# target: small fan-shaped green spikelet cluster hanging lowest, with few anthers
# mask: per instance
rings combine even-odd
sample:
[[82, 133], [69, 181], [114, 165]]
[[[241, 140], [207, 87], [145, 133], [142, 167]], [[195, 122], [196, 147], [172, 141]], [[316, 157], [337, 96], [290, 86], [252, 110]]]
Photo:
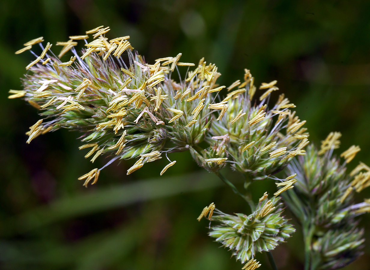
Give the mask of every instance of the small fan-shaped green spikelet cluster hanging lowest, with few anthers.
[[217, 225], [210, 228], [209, 236], [232, 250], [232, 256], [242, 263], [253, 259], [257, 252], [275, 249], [295, 232], [282, 216], [283, 209], [279, 200], [280, 197], [276, 196], [269, 199], [265, 193], [250, 215], [229, 215], [214, 209], [208, 219]]

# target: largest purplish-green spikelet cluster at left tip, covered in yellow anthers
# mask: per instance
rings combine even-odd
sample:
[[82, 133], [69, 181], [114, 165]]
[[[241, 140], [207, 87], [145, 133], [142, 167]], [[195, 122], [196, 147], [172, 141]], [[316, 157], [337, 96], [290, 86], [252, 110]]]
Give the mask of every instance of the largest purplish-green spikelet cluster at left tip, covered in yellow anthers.
[[[132, 52], [129, 36], [108, 40], [107, 31], [107, 27], [97, 27], [58, 42], [63, 46], [58, 57], [51, 52], [50, 43], [45, 48], [41, 45], [42, 37], [17, 52], [37, 43], [42, 51], [26, 67], [30, 73], [23, 79], [23, 90], [10, 90], [9, 96], [23, 97], [40, 110], [42, 119], [30, 127], [27, 143], [59, 128], [80, 131], [85, 143], [80, 149], [87, 151], [85, 157], [92, 162], [100, 155], [112, 157], [108, 164], [116, 159], [137, 159], [127, 174], [167, 157], [167, 153], [201, 143], [212, 122], [211, 93], [222, 89], [215, 84], [221, 75], [217, 67], [201, 59], [176, 83], [172, 72], [195, 64], [180, 62], [178, 54], [150, 65]], [[78, 41], [85, 42], [82, 55], [74, 49]], [[74, 56], [61, 61], [67, 52]], [[161, 174], [174, 164], [170, 162]], [[84, 185], [92, 179], [95, 183], [101, 169], [79, 179], [85, 179]]]

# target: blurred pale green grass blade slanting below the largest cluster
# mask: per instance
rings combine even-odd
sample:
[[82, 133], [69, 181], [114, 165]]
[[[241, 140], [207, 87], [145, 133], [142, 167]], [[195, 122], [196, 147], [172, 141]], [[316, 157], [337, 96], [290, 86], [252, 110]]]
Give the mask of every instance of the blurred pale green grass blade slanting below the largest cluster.
[[218, 181], [214, 175], [202, 171], [98, 189], [72, 198], [61, 198], [50, 205], [10, 218], [4, 221], [2, 234], [4, 232], [6, 235], [22, 233], [63, 219], [219, 185], [221, 181]]

